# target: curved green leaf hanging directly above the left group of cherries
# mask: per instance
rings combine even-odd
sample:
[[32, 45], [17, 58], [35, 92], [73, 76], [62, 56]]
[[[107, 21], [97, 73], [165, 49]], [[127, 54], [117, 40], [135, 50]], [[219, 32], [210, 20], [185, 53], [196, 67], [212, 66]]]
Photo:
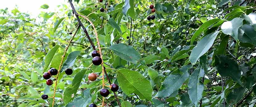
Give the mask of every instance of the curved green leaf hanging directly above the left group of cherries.
[[43, 61], [43, 71], [47, 72], [47, 68], [50, 65], [52, 58], [54, 57], [54, 54], [57, 52], [58, 48], [60, 47], [60, 45], [56, 45], [54, 46], [45, 56], [44, 61]]

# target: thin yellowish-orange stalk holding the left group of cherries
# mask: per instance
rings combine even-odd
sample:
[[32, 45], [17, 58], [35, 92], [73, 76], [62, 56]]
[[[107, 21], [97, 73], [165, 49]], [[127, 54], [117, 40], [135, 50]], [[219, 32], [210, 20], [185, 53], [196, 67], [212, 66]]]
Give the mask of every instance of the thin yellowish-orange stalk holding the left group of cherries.
[[66, 52], [68, 51], [68, 47], [69, 45], [71, 44], [72, 40], [74, 39], [78, 29], [80, 28], [80, 25], [77, 26], [77, 29], [76, 29], [76, 32], [74, 33], [74, 35], [72, 36], [72, 38], [70, 39], [70, 41], [68, 42], [68, 46], [65, 48], [64, 50], [64, 53], [63, 53], [63, 56], [62, 56], [62, 59], [60, 61], [60, 66], [59, 66], [59, 70], [58, 70], [58, 74], [56, 76], [56, 82], [55, 82], [55, 87], [54, 87], [54, 93], [53, 93], [53, 101], [52, 101], [52, 107], [54, 106], [54, 99], [55, 99], [55, 94], [56, 94], [56, 87], [57, 87], [57, 83], [58, 83], [58, 77], [60, 75], [60, 68], [62, 66], [62, 63], [63, 63], [63, 60], [64, 60], [64, 57], [65, 57], [65, 54]]

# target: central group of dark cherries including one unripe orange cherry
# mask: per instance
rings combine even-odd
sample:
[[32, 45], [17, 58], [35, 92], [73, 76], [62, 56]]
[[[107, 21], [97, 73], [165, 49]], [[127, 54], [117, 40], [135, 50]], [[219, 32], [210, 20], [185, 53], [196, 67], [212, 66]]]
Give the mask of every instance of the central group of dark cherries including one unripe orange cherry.
[[[93, 57], [93, 65], [101, 64], [102, 60], [101, 60], [100, 54], [97, 52], [97, 50], [93, 50], [92, 57]], [[88, 79], [90, 81], [95, 81], [97, 79], [97, 75], [95, 73], [91, 73], [88, 75]], [[115, 83], [111, 84], [109, 87], [113, 92], [118, 91], [118, 88], [119, 88], [118, 85]], [[103, 88], [100, 90], [100, 94], [103, 97], [107, 97], [109, 95], [109, 90], [106, 88]], [[89, 107], [97, 107], [97, 106], [92, 103], [89, 105]]]

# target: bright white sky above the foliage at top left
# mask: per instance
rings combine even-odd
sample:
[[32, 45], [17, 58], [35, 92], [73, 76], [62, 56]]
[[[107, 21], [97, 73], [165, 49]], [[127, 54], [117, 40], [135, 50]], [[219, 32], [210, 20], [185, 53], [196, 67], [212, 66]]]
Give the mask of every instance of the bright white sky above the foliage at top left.
[[[41, 9], [40, 6], [43, 4], [47, 4], [49, 8]], [[35, 18], [41, 11], [55, 12], [55, 8], [61, 4], [68, 4], [68, 0], [4, 0], [0, 3], [0, 9], [7, 7], [11, 11], [17, 5], [20, 12], [29, 13]]]

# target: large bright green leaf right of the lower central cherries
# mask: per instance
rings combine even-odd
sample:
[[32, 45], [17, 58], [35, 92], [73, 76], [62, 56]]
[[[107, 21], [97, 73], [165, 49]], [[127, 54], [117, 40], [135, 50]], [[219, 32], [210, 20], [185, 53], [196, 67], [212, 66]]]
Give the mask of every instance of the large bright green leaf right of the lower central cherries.
[[119, 69], [117, 71], [118, 83], [125, 94], [138, 94], [140, 99], [151, 100], [152, 87], [149, 80], [136, 71]]

